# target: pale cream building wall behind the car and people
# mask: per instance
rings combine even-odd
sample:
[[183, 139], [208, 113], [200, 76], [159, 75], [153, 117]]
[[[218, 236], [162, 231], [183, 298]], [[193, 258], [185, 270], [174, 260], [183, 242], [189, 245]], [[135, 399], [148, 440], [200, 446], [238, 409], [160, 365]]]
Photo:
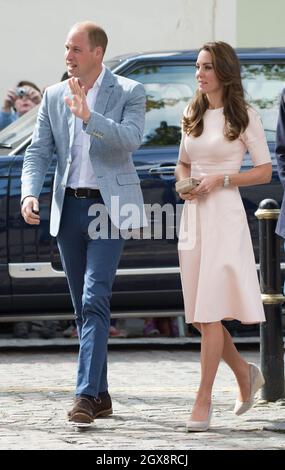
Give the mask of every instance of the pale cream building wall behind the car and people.
[[128, 52], [192, 49], [210, 40], [284, 46], [284, 0], [0, 0], [0, 103], [17, 81], [60, 80], [64, 41], [77, 21], [101, 24], [106, 58]]

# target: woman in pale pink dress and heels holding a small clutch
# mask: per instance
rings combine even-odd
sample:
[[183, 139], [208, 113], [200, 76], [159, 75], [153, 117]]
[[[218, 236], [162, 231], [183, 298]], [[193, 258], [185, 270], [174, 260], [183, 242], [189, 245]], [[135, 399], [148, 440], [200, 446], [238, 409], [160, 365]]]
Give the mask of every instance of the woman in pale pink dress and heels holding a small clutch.
[[[265, 321], [256, 266], [239, 186], [268, 183], [271, 158], [261, 120], [244, 99], [240, 65], [231, 46], [208, 43], [197, 59], [198, 89], [183, 116], [177, 180], [200, 184], [187, 194], [179, 235], [186, 322], [201, 338], [201, 381], [188, 431], [210, 425], [213, 382], [221, 358], [238, 383], [234, 412], [251, 408], [263, 385], [259, 368], [235, 348], [222, 320]], [[253, 168], [240, 172], [246, 151]]]

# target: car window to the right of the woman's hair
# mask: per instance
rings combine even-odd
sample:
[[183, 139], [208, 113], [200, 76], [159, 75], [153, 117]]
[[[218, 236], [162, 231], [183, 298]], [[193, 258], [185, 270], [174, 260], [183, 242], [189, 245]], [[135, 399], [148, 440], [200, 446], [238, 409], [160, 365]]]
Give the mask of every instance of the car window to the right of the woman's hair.
[[246, 99], [260, 114], [267, 141], [274, 142], [285, 64], [244, 64], [241, 73]]

